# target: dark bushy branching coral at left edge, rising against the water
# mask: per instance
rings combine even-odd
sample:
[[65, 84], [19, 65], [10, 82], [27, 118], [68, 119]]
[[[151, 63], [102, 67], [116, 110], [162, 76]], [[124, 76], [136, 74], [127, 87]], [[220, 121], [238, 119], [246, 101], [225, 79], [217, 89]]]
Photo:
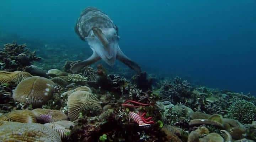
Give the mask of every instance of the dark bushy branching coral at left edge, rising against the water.
[[26, 44], [18, 45], [16, 42], [4, 45], [0, 51], [0, 62], [4, 70], [22, 70], [23, 67], [31, 65], [32, 61], [40, 60], [34, 52], [26, 49]]

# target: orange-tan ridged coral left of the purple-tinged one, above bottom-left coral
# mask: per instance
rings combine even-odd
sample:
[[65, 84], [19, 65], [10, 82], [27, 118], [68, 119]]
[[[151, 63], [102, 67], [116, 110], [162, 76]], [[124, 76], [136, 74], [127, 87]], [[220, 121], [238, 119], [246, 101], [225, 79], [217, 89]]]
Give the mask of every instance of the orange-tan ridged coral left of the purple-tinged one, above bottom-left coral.
[[6, 115], [7, 121], [36, 123], [36, 116], [31, 110], [14, 110]]

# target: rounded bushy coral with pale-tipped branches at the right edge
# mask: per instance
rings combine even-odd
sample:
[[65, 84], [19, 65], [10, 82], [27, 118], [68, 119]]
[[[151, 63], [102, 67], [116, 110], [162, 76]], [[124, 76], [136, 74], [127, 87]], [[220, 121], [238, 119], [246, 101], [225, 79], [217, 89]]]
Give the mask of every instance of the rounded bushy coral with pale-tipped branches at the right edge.
[[237, 99], [228, 108], [228, 117], [236, 119], [242, 124], [251, 124], [256, 120], [256, 105], [244, 99]]

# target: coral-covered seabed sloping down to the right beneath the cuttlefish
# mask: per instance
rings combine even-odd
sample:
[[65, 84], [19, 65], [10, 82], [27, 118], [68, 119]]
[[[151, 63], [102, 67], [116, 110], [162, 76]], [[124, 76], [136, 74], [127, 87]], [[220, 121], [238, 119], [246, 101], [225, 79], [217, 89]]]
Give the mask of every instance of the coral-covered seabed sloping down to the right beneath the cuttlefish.
[[1, 50], [0, 141], [256, 140], [252, 94], [194, 86], [174, 76], [133, 76], [118, 64], [86, 66], [74, 74], [70, 67], [79, 61], [68, 60], [83, 54], [45, 46], [43, 62], [34, 62], [38, 67], [31, 65], [39, 58], [26, 45]]

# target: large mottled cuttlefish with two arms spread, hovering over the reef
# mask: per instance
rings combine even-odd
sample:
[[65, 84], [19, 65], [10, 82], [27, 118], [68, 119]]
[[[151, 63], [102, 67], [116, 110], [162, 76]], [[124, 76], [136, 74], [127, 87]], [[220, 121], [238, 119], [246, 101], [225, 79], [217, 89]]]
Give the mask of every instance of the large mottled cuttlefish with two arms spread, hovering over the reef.
[[118, 59], [137, 73], [141, 72], [140, 66], [121, 51], [118, 28], [102, 11], [94, 7], [88, 7], [82, 11], [76, 23], [75, 32], [82, 40], [88, 42], [93, 54], [88, 59], [74, 64], [71, 67], [73, 72], [79, 72], [83, 67], [100, 59], [110, 66], [113, 66]]

